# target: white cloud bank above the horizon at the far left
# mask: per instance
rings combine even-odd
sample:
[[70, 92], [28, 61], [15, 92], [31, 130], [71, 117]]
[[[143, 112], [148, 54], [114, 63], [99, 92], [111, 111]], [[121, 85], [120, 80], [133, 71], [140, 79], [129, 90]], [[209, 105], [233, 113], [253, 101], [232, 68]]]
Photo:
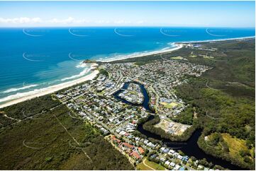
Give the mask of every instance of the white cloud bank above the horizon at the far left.
[[0, 23], [41, 23], [41, 18], [28, 18], [28, 17], [20, 17], [20, 18], [0, 18]]

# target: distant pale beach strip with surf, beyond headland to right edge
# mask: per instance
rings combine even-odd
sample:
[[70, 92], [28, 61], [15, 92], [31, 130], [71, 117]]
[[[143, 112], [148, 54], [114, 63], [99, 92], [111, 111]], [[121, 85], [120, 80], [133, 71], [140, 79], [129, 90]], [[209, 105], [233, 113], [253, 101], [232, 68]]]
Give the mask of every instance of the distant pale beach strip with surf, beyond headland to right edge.
[[216, 40], [198, 40], [198, 41], [187, 41], [187, 42], [172, 42], [172, 44], [175, 46], [170, 49], [160, 49], [160, 50], [155, 50], [152, 52], [141, 52], [140, 54], [128, 54], [128, 55], [123, 55], [123, 57], [117, 57], [117, 58], [112, 58], [112, 59], [99, 59], [96, 61], [99, 62], [112, 62], [112, 61], [121, 61], [124, 59], [133, 59], [133, 58], [138, 58], [138, 57], [145, 57], [149, 55], [155, 55], [155, 54], [163, 54], [163, 53], [168, 53], [172, 52], [174, 50], [181, 49], [184, 47], [184, 45], [188, 43], [199, 43], [199, 42], [222, 42], [222, 41], [228, 41], [228, 40], [245, 40], [245, 39], [252, 39], [255, 38], [255, 36], [247, 36], [247, 37], [236, 37], [236, 38], [226, 38], [226, 39], [216, 39]]

